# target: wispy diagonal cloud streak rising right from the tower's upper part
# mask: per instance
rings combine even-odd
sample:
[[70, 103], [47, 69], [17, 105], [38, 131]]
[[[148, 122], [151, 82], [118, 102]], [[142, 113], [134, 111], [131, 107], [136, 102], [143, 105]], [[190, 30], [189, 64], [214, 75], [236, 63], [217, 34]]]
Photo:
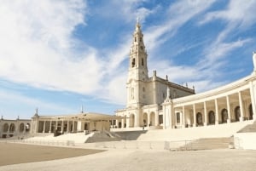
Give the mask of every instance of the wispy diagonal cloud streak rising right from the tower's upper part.
[[178, 1], [167, 9], [166, 20], [159, 26], [152, 26], [145, 31], [145, 42], [148, 51], [154, 51], [162, 43], [169, 40], [188, 20], [207, 10], [215, 0], [210, 1]]

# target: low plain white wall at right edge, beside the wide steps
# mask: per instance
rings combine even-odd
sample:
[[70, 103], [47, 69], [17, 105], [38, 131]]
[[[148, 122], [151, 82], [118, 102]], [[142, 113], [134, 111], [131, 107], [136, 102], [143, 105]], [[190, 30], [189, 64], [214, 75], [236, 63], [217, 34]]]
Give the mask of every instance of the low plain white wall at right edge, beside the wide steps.
[[234, 135], [236, 149], [256, 150], [256, 133], [238, 133]]

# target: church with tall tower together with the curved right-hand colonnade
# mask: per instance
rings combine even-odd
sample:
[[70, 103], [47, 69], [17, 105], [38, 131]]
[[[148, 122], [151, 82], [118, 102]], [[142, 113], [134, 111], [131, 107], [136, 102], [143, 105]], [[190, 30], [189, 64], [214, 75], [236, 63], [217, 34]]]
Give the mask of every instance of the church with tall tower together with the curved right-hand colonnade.
[[187, 128], [256, 120], [256, 54], [250, 76], [195, 94], [195, 89], [158, 77], [148, 77], [147, 51], [137, 22], [126, 82], [125, 109], [116, 111], [116, 128]]

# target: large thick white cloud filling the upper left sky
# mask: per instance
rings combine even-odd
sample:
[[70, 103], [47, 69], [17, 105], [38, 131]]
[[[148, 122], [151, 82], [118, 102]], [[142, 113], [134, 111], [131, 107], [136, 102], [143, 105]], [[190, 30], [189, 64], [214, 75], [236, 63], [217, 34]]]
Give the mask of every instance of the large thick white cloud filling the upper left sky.
[[90, 94], [99, 88], [102, 63], [96, 50], [73, 39], [85, 25], [86, 3], [3, 1], [0, 8], [0, 77], [39, 88]]

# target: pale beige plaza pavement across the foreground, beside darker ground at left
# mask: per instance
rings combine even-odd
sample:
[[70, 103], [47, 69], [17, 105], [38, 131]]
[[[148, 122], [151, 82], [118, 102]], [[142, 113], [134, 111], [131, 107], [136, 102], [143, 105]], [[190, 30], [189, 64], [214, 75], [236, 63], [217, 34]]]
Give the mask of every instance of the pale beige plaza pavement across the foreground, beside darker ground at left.
[[212, 151], [113, 149], [83, 157], [7, 165], [0, 167], [0, 170], [255, 171], [256, 151], [234, 149]]

